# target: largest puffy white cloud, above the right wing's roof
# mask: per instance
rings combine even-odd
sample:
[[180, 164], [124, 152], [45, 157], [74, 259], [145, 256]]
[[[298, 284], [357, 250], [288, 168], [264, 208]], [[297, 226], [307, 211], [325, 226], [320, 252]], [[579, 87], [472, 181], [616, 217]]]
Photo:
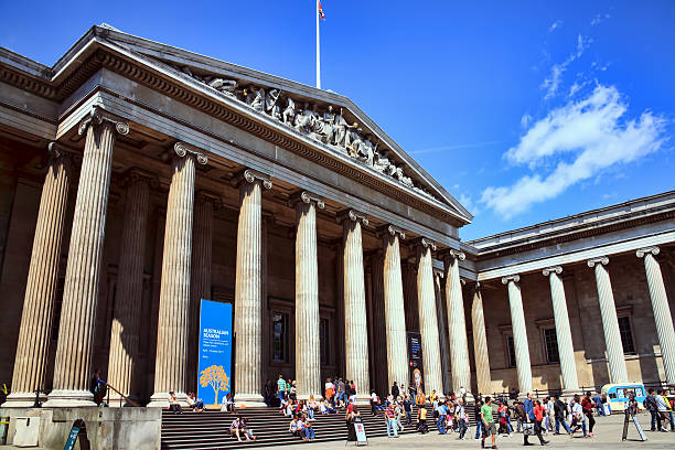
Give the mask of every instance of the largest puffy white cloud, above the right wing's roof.
[[513, 185], [485, 189], [480, 202], [510, 218], [606, 169], [658, 150], [666, 139], [665, 120], [651, 111], [629, 120], [626, 109], [615, 87], [599, 85], [588, 97], [551, 110], [504, 154], [532, 173]]

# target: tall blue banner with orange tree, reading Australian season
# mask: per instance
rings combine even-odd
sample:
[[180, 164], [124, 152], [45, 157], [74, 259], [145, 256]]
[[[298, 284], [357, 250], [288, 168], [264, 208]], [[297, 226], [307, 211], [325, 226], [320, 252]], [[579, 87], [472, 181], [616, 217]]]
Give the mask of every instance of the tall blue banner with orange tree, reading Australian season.
[[197, 397], [218, 406], [229, 392], [232, 375], [232, 304], [202, 300]]

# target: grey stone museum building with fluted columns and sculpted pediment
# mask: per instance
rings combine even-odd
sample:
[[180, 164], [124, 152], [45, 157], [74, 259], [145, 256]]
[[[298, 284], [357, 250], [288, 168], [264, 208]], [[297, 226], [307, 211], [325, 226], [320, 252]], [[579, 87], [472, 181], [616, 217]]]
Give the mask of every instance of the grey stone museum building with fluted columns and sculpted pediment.
[[0, 49], [3, 408], [195, 390], [199, 304], [232, 389], [300, 397], [675, 385], [675, 191], [461, 242], [471, 214], [349, 98], [94, 26]]

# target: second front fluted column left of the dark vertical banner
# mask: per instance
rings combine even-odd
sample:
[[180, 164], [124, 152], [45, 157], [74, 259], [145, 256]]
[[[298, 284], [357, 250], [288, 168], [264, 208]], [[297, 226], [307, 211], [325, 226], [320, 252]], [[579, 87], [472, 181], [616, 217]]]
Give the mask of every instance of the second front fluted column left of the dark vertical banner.
[[368, 218], [354, 210], [339, 216], [343, 226], [344, 256], [344, 350], [345, 376], [357, 386], [357, 399], [367, 401], [371, 394], [368, 375], [368, 325], [363, 268], [361, 225]]

